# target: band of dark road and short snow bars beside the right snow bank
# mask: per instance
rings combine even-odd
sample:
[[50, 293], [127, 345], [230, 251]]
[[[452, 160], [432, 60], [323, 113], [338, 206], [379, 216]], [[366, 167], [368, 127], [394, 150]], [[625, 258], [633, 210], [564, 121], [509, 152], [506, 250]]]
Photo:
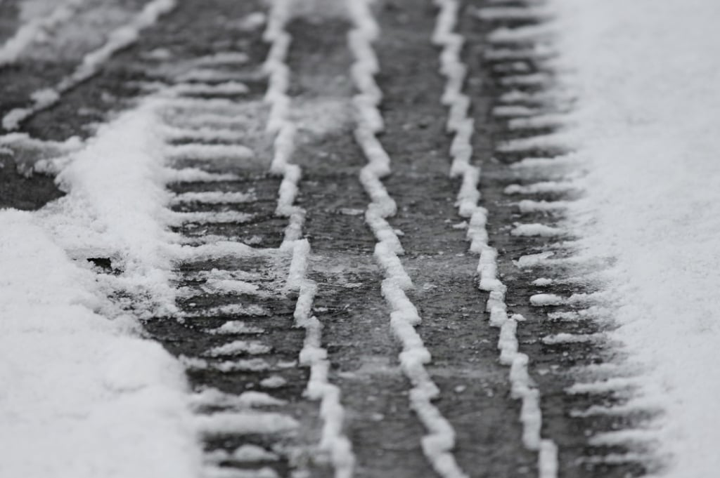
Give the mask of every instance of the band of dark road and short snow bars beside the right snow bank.
[[[582, 158], [571, 152], [562, 134], [573, 121], [568, 113], [574, 100], [554, 63], [552, 12], [527, 1], [509, 5], [471, 10], [474, 27], [482, 29], [480, 41], [488, 45], [480, 59], [489, 73], [484, 91], [495, 96], [490, 116], [499, 161], [487, 164], [490, 176], [483, 179], [486, 201], [494, 204], [490, 240], [515, 259], [500, 257], [498, 272], [509, 286], [508, 303], [527, 319], [517, 330], [518, 339], [527, 344], [531, 373], [544, 392], [544, 430], [559, 446], [559, 473], [642, 476], [647, 468], [635, 458], [647, 456], [652, 444], [640, 443], [647, 434], [634, 429], [642, 431], [654, 412], [638, 406], [624, 413], [629, 410], [625, 404], [636, 398], [632, 387], [622, 385], [638, 372], [622, 368], [609, 377], [578, 372], [622, 358], [602, 334], [612, 323], [608, 298], [599, 293], [601, 282], [595, 278], [606, 265], [575, 257], [564, 224], [565, 208], [582, 200]], [[508, 198], [518, 199], [508, 203]], [[514, 223], [511, 234], [495, 231], [493, 216]], [[618, 413], [602, 412], [595, 408], [599, 403]], [[593, 410], [592, 418], [582, 410]]]

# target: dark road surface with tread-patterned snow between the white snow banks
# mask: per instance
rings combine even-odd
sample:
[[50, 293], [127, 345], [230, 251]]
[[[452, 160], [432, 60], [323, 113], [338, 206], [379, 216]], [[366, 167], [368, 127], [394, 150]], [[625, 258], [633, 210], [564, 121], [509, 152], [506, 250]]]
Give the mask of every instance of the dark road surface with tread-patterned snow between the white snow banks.
[[107, 43], [0, 69], [6, 133], [37, 139], [0, 152], [0, 206], [62, 196], [14, 163], [156, 98], [189, 252], [143, 325], [186, 364], [207, 476], [649, 471], [623, 432], [654, 412], [622, 411], [636, 371], [564, 221], [581, 172], [554, 160], [572, 98], [541, 2], [154, 3], [89, 73]]

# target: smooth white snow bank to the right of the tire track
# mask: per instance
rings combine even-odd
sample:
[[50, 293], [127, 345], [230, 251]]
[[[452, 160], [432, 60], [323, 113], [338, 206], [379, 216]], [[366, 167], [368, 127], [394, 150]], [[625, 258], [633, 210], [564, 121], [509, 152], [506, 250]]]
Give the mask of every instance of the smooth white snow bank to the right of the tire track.
[[[616, 257], [613, 332], [651, 367], [668, 477], [720, 469], [720, 3], [554, 0], [590, 160], [571, 208], [585, 251]], [[590, 205], [590, 206], [588, 206]], [[590, 217], [591, 221], [583, 221]]]

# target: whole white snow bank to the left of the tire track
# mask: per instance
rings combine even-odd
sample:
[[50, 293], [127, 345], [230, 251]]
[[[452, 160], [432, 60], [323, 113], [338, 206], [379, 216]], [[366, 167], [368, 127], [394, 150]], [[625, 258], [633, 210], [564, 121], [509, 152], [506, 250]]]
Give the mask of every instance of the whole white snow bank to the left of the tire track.
[[183, 367], [107, 299], [148, 298], [148, 315], [174, 303], [155, 115], [148, 101], [72, 153], [58, 176], [67, 196], [0, 211], [3, 476], [199, 476]]

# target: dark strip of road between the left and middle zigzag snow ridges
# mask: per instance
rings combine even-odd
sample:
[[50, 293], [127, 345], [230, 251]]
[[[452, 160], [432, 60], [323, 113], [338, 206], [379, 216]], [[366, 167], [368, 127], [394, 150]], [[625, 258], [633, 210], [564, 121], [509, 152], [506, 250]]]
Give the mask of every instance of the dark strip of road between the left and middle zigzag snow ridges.
[[298, 126], [294, 162], [303, 170], [298, 201], [307, 209], [313, 246], [314, 313], [323, 322], [331, 380], [343, 392], [356, 476], [429, 477], [423, 427], [408, 406], [407, 379], [395, 364], [397, 342], [387, 333], [375, 239], [362, 218], [367, 198], [358, 175], [366, 159], [352, 134], [350, 25], [343, 2], [332, 5], [288, 27], [297, 39], [288, 60]]

